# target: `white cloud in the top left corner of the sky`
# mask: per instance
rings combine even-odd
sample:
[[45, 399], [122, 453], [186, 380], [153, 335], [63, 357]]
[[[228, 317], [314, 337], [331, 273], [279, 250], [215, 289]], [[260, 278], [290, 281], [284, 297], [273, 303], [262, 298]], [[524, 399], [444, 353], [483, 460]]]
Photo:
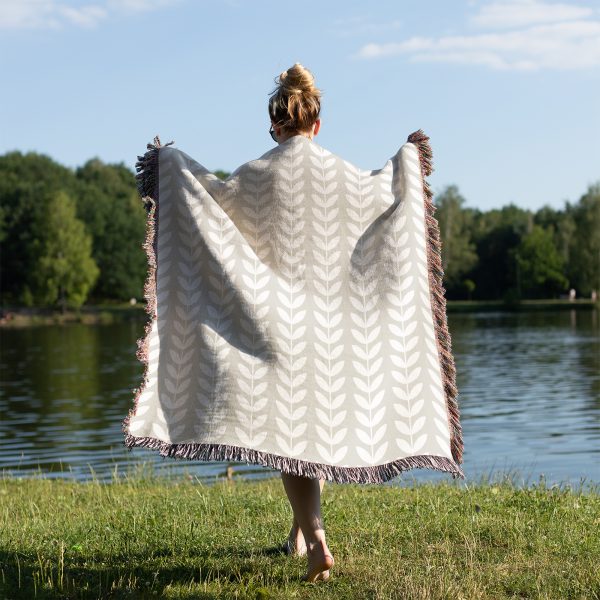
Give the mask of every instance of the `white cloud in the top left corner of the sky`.
[[95, 27], [118, 12], [142, 12], [178, 0], [104, 0], [75, 6], [65, 0], [0, 0], [0, 29]]

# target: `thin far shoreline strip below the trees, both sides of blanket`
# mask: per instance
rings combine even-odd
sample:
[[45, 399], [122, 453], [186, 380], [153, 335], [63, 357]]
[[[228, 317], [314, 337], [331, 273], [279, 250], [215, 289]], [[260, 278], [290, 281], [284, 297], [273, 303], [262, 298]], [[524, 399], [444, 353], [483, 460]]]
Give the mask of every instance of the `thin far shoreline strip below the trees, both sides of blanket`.
[[[447, 312], [497, 312], [543, 310], [600, 310], [600, 301], [580, 300], [522, 300], [506, 303], [502, 300], [448, 300]], [[30, 325], [60, 325], [66, 323], [110, 324], [131, 320], [147, 320], [144, 303], [113, 303], [82, 306], [79, 310], [62, 312], [55, 308], [4, 307], [0, 311], [0, 327]]]

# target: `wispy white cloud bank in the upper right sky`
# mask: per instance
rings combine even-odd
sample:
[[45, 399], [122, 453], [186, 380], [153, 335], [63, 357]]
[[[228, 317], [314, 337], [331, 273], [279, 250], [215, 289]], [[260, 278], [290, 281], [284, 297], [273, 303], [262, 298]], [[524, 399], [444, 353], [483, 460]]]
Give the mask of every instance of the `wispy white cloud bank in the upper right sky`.
[[[543, 7], [548, 9], [545, 15]], [[363, 46], [356, 56], [406, 55], [410, 62], [449, 62], [520, 71], [597, 67], [600, 66], [600, 20], [576, 18], [589, 14], [588, 9], [565, 4], [506, 0], [484, 5], [471, 22], [490, 27], [529, 26], [493, 33], [414, 36], [400, 42], [371, 43]]]

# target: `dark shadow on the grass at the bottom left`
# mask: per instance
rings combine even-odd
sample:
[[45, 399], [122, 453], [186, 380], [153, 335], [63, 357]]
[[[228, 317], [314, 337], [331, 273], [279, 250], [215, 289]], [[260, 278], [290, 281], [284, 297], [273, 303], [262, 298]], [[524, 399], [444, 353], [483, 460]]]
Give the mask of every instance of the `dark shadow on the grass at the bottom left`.
[[[223, 590], [202, 591], [199, 588], [233, 588], [237, 598], [270, 598], [264, 582], [257, 585], [257, 567], [253, 559], [286, 556], [280, 546], [245, 550], [236, 546], [213, 547], [187, 552], [186, 558], [196, 563], [186, 566], [157, 566], [156, 559], [179, 558], [171, 548], [152, 552], [111, 556], [111, 563], [98, 561], [71, 564], [43, 558], [39, 554], [0, 550], [0, 597], [17, 598], [161, 598], [167, 586], [178, 588], [181, 598], [222, 598]], [[233, 559], [233, 560], [232, 560]], [[236, 560], [237, 559], [237, 560]], [[275, 578], [277, 578], [277, 569]], [[271, 575], [271, 577], [273, 577]], [[284, 581], [281, 581], [284, 584]]]

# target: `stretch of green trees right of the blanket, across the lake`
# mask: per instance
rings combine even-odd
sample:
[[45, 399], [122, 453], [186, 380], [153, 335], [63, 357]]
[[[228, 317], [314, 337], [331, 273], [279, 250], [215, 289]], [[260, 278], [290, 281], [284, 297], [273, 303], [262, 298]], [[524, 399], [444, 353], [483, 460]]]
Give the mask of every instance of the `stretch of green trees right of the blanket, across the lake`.
[[455, 185], [436, 197], [448, 299], [557, 298], [600, 292], [600, 181], [576, 203], [536, 211], [465, 206]]

